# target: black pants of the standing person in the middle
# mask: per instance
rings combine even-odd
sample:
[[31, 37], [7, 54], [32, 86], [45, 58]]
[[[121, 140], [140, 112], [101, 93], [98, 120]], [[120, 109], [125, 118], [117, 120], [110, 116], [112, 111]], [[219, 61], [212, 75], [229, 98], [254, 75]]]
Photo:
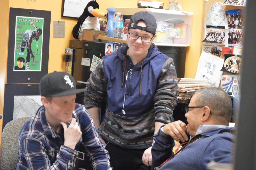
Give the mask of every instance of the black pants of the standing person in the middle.
[[146, 149], [126, 149], [108, 143], [106, 150], [110, 154], [110, 165], [113, 167], [113, 170], [151, 169], [151, 166], [146, 166], [142, 162], [142, 156]]

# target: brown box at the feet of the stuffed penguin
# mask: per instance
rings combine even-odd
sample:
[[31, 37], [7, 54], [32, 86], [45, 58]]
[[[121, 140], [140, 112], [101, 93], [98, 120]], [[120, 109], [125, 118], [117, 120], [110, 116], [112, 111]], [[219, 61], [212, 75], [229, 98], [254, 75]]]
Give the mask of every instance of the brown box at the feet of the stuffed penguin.
[[99, 40], [97, 38], [98, 35], [107, 36], [106, 31], [98, 31], [98, 30], [83, 30], [82, 40], [83, 41], [91, 41], [91, 42], [106, 42], [105, 40]]

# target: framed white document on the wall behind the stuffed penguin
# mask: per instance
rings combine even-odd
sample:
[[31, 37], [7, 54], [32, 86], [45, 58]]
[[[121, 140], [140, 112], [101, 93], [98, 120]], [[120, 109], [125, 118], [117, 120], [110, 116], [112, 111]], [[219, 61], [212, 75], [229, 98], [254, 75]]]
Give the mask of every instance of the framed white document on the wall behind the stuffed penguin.
[[92, 0], [63, 0], [62, 16], [79, 18], [90, 1]]

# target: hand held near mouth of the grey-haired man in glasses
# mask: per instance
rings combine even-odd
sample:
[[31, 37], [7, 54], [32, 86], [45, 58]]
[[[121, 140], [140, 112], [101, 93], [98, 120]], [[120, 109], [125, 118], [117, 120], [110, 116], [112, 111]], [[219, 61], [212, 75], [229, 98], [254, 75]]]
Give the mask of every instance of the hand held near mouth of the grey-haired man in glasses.
[[163, 131], [166, 135], [172, 136], [174, 140], [178, 142], [185, 142], [188, 140], [187, 125], [182, 121], [175, 121], [164, 125]]

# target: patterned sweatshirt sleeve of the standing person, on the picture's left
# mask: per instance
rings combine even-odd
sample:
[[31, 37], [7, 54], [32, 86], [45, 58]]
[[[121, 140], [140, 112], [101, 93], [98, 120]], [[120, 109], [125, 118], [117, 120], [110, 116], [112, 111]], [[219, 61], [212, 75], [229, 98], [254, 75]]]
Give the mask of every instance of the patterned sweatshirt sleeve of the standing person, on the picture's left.
[[86, 109], [91, 107], [100, 107], [107, 94], [107, 80], [104, 74], [104, 58], [96, 69], [90, 74], [87, 86], [84, 92], [84, 106]]

